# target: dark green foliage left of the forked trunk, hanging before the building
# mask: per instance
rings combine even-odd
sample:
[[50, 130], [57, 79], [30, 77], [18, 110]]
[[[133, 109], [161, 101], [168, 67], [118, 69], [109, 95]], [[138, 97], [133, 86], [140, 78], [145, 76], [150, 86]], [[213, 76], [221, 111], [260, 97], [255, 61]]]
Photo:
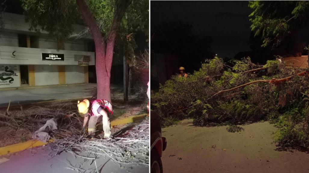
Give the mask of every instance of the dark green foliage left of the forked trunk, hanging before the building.
[[30, 29], [47, 31], [52, 38], [64, 40], [73, 32], [79, 15], [75, 0], [21, 0]]

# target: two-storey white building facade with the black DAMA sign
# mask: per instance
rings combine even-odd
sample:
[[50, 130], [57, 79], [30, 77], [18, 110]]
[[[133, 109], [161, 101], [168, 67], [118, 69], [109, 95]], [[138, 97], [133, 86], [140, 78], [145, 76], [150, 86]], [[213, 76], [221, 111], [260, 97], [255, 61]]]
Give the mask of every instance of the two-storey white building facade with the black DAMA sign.
[[[29, 31], [25, 16], [5, 13], [0, 33], [0, 88], [88, 83], [95, 77], [90, 35], [61, 43]], [[85, 26], [75, 25], [75, 33]], [[61, 50], [60, 50], [61, 49]]]

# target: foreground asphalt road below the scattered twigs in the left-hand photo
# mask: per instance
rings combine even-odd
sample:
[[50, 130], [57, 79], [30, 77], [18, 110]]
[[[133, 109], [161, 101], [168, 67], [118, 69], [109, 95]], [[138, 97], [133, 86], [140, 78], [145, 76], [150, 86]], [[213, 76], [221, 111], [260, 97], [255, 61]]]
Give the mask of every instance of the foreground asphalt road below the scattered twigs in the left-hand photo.
[[[95, 163], [91, 160], [74, 157], [74, 155], [62, 152], [60, 155], [47, 149], [28, 149], [11, 156], [0, 157], [1, 173], [76, 173], [72, 167], [79, 167], [84, 170], [96, 169]], [[54, 157], [53, 157], [54, 156]], [[146, 165], [117, 165], [108, 157], [97, 158], [96, 164], [100, 173], [146, 173], [149, 167]], [[71, 166], [70, 166], [71, 165]], [[84, 172], [84, 171], [81, 171]], [[90, 171], [86, 171], [90, 172]], [[95, 171], [96, 172], [96, 171]]]

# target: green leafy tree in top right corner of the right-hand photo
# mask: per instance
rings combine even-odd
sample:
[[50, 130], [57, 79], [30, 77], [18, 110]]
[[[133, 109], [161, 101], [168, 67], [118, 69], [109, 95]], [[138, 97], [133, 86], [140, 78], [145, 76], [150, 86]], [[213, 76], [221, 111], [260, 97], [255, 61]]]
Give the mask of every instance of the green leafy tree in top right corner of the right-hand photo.
[[249, 7], [254, 10], [251, 29], [262, 38], [261, 46], [271, 46], [277, 54], [302, 51], [298, 30], [308, 24], [308, 1], [249, 1]]

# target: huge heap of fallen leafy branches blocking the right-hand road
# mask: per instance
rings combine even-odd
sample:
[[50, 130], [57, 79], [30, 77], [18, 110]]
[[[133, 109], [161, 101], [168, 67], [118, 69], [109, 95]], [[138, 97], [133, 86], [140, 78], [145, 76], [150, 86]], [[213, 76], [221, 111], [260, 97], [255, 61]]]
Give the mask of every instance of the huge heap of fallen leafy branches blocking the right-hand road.
[[256, 65], [250, 58], [228, 65], [206, 60], [188, 78], [173, 76], [151, 95], [152, 109], [168, 126], [193, 118], [197, 126], [270, 120], [281, 146], [309, 148], [309, 69], [279, 60]]

